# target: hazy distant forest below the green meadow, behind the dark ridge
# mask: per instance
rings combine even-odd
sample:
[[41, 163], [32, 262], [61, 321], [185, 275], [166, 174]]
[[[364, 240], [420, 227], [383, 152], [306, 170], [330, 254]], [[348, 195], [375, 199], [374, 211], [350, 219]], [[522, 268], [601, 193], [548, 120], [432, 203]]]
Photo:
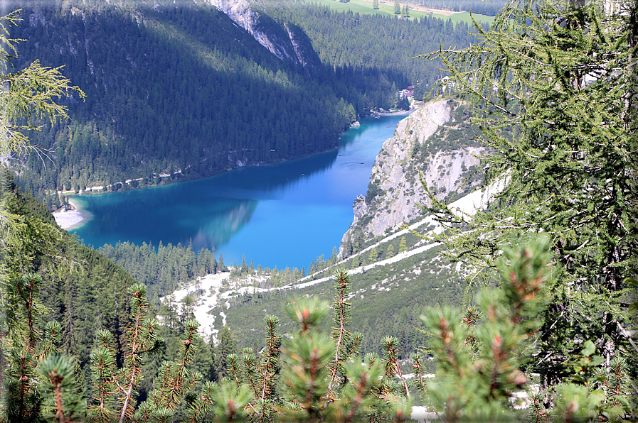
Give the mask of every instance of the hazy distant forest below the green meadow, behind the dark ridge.
[[[265, 9], [280, 20], [296, 23], [312, 40], [321, 62], [347, 77], [360, 70], [378, 70], [400, 75], [404, 84], [415, 86], [415, 99], [423, 99], [442, 74], [441, 63], [415, 59], [440, 45], [469, 45], [476, 30], [467, 24], [454, 25], [439, 18], [397, 19], [384, 15], [337, 12], [327, 6], [300, 6], [292, 0], [265, 2]], [[365, 81], [354, 82], [359, 90]], [[398, 83], [398, 82], [397, 82]], [[400, 85], [398, 89], [402, 89]], [[383, 106], [383, 104], [380, 104]], [[385, 106], [383, 106], [385, 107]]]

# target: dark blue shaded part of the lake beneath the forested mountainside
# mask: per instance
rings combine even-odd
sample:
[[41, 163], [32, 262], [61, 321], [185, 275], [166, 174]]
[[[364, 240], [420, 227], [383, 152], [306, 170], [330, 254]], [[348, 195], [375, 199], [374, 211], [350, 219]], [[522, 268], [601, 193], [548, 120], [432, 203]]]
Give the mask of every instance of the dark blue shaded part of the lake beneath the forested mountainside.
[[77, 234], [93, 246], [117, 241], [193, 243], [219, 248], [252, 219], [260, 200], [326, 172], [338, 150], [278, 165], [244, 167], [201, 180], [124, 192], [75, 196], [93, 218]]

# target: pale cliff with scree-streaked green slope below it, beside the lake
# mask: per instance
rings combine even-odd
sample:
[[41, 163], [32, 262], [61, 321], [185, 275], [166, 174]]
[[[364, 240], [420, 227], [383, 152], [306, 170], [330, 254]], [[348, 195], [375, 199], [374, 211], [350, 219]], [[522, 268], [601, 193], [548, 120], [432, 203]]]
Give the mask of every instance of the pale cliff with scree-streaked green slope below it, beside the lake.
[[[219, 278], [216, 282], [200, 281], [188, 285], [176, 292], [170, 301], [180, 302], [186, 296], [191, 297], [196, 300], [196, 315], [202, 320], [201, 329], [207, 334], [229, 326], [243, 346], [260, 346], [263, 338], [261, 322], [265, 314], [282, 315], [282, 307], [289, 297], [312, 296], [331, 300], [332, 275], [338, 269], [346, 269], [352, 280], [349, 302], [353, 309], [353, 330], [366, 334], [363, 350], [379, 351], [381, 338], [395, 334], [400, 341], [402, 357], [407, 358], [427, 339], [418, 330], [418, 316], [422, 309], [461, 304], [464, 297], [463, 276], [442, 257], [442, 246], [411, 232], [427, 234], [440, 231], [440, 226], [432, 216], [417, 212], [420, 208], [414, 204], [425, 199], [424, 193], [409, 190], [416, 189], [419, 184], [416, 169], [427, 171], [434, 168], [431, 175], [437, 177], [441, 176], [438, 166], [445, 163], [445, 177], [432, 182], [433, 187], [440, 191], [437, 195], [451, 198], [458, 194], [461, 198], [452, 207], [469, 214], [476, 207], [482, 207], [483, 194], [467, 194], [474, 183], [464, 180], [472, 172], [469, 169], [472, 163], [479, 163], [467, 150], [477, 147], [473, 141], [459, 142], [460, 139], [454, 138], [457, 135], [454, 131], [464, 135], [471, 131], [467, 118], [464, 107], [458, 101], [438, 100], [426, 104], [400, 122], [395, 136], [384, 143], [372, 171], [372, 178], [385, 177], [384, 183], [377, 184], [378, 192], [371, 207], [355, 218], [349, 233], [344, 236], [344, 245], [357, 243], [356, 251], [351, 249], [349, 254], [342, 253], [340, 260], [330, 265], [332, 260], [318, 263], [309, 269], [310, 275], [283, 287], [269, 282], [269, 277], [275, 278], [272, 272], [257, 273], [249, 278], [227, 273], [216, 276]], [[417, 139], [422, 141], [417, 143]], [[467, 166], [465, 172], [462, 164]], [[448, 168], [450, 175], [447, 175]], [[443, 187], [446, 187], [445, 192]], [[451, 192], [452, 189], [461, 193]], [[359, 200], [359, 203], [362, 201]], [[405, 204], [405, 207], [398, 209], [400, 213], [394, 214], [393, 219], [400, 221], [403, 216], [403, 221], [406, 221], [413, 217], [409, 230], [400, 229], [395, 223], [383, 227], [383, 224], [388, 224], [386, 207], [395, 207], [396, 204]], [[362, 223], [364, 221], [367, 223]], [[374, 222], [378, 225], [375, 226]], [[378, 227], [383, 227], [382, 235], [374, 236], [372, 229]], [[368, 228], [371, 228], [370, 231]], [[358, 234], [360, 238], [353, 242], [349, 238], [351, 234]], [[294, 330], [286, 323], [282, 325], [280, 329], [284, 333]], [[328, 326], [329, 322], [325, 325]]]

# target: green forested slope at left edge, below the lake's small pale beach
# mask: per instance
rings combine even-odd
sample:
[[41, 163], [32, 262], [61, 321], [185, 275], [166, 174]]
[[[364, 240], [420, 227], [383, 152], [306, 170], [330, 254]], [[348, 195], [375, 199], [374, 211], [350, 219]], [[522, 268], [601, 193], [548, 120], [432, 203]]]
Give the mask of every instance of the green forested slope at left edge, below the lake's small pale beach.
[[[60, 230], [41, 203], [16, 187], [6, 168], [0, 171], [3, 212], [16, 216], [20, 225], [15, 231], [3, 232], [2, 278], [11, 280], [23, 273], [42, 276], [45, 283], [39, 299], [46, 307], [43, 318], [60, 322], [60, 347], [73, 351], [82, 366], [88, 363], [97, 329], [114, 334], [117, 356], [122, 358], [122, 343], [132, 323], [125, 292], [133, 278]], [[25, 245], [25, 235], [38, 236], [38, 242]], [[1, 324], [11, 324], [10, 317], [9, 322], [6, 315], [2, 317]]]

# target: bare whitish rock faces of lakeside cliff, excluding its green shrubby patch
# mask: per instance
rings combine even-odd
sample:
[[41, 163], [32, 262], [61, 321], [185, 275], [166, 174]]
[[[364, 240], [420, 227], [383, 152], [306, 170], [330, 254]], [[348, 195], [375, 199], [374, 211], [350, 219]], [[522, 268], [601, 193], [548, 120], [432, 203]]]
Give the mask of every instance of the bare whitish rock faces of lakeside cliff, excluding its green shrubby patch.
[[359, 195], [354, 204], [354, 219], [342, 239], [340, 253], [344, 256], [344, 243], [358, 227], [366, 238], [372, 238], [422, 215], [419, 204], [429, 198], [418, 177], [422, 172], [425, 184], [434, 189], [437, 198], [445, 198], [462, 184], [462, 174], [480, 160], [482, 148], [459, 145], [445, 148], [427, 156], [414, 158], [413, 151], [450, 121], [452, 109], [458, 104], [450, 100], [431, 101], [398, 123], [395, 134], [383, 143], [371, 172], [371, 183], [378, 194], [369, 199]]

